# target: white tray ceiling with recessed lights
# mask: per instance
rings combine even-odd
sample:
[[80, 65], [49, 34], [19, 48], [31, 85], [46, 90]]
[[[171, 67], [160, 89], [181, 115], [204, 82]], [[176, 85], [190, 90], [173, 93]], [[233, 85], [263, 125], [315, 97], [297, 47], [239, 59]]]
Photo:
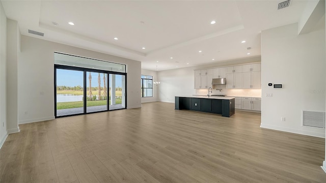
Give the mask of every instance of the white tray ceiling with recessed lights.
[[282, 1], [1, 2], [22, 35], [139, 60], [143, 69], [159, 71], [259, 56], [260, 32], [298, 22], [307, 5], [291, 0], [278, 10]]

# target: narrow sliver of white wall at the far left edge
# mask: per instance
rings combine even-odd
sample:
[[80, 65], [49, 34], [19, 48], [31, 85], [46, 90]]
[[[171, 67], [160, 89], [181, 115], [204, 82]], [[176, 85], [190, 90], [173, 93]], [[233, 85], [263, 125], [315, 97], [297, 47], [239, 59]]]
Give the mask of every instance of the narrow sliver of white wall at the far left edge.
[[7, 17], [0, 2], [0, 148], [7, 133]]

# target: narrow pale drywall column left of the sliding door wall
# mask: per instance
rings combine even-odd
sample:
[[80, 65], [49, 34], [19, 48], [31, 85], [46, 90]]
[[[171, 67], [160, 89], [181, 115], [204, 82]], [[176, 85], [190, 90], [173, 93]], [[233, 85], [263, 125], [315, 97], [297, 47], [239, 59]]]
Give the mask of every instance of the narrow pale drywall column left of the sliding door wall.
[[20, 33], [18, 22], [7, 19], [7, 129], [19, 132], [18, 127], [18, 51]]

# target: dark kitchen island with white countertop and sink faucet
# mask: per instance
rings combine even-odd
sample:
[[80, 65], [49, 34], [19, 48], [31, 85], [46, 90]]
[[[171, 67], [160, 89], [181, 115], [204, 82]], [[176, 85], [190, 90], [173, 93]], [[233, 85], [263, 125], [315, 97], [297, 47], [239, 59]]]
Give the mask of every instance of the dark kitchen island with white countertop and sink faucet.
[[210, 112], [230, 117], [234, 114], [234, 100], [234, 97], [176, 96], [175, 109]]

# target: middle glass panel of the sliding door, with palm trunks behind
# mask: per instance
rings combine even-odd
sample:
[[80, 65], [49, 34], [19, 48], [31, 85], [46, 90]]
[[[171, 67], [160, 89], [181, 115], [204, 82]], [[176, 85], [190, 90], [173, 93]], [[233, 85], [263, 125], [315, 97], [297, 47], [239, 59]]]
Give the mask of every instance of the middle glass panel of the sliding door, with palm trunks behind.
[[107, 110], [107, 74], [86, 72], [86, 112]]

